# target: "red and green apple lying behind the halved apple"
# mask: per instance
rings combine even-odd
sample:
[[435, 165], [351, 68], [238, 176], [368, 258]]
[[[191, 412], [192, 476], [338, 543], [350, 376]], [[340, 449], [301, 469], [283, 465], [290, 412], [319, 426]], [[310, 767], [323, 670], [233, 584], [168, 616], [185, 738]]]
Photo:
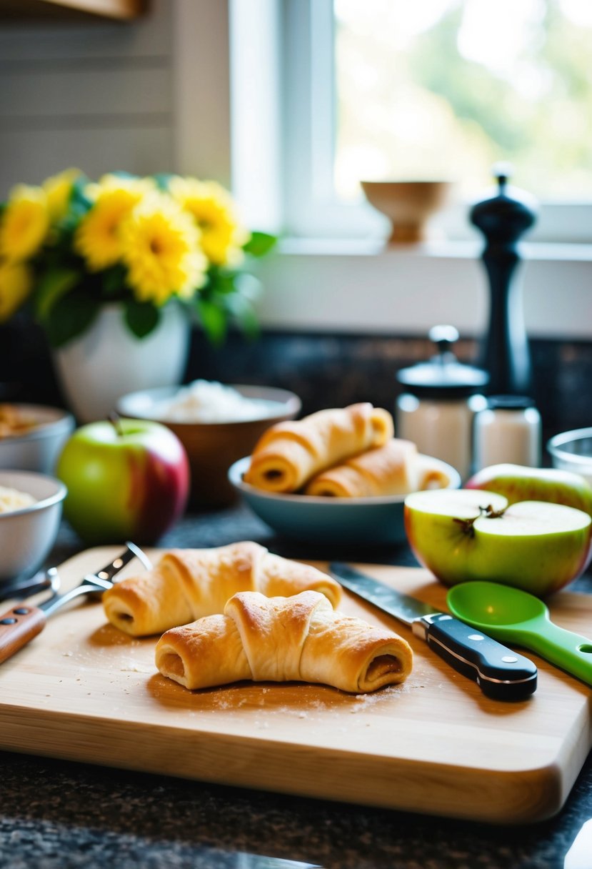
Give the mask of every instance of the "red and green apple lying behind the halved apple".
[[592, 516], [592, 486], [571, 471], [560, 468], [526, 468], [523, 465], [490, 465], [473, 474], [464, 488], [486, 489], [516, 501], [550, 501], [576, 507]]

